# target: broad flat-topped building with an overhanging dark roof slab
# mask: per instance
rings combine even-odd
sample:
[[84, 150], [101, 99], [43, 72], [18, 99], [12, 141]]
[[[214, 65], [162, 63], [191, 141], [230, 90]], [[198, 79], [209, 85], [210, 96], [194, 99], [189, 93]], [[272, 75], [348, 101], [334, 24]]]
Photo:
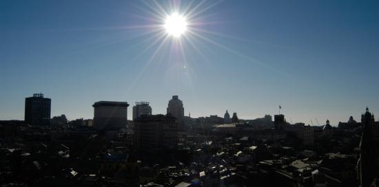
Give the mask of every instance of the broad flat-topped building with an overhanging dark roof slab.
[[127, 102], [99, 101], [94, 107], [94, 128], [99, 131], [118, 130], [127, 126]]

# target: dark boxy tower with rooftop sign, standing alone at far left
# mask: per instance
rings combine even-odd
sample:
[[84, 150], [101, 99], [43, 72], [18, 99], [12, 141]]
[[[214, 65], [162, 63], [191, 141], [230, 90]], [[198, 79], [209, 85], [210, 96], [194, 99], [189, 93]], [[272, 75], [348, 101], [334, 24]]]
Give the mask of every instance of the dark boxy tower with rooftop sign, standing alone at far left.
[[49, 125], [51, 99], [43, 98], [43, 94], [33, 94], [25, 98], [25, 123], [30, 125]]

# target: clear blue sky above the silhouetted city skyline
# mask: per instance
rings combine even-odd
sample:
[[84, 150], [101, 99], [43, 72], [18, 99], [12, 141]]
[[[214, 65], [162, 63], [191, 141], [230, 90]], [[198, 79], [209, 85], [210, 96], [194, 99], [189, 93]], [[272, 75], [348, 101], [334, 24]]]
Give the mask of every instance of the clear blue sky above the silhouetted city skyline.
[[[166, 12], [173, 2], [158, 1]], [[181, 11], [201, 3], [189, 2]], [[194, 117], [252, 119], [279, 104], [306, 124], [360, 120], [366, 105], [379, 117], [379, 1], [207, 1], [190, 23], [201, 37], [188, 34], [184, 55], [168, 38], [154, 58], [163, 41], [147, 49], [145, 26], [160, 10], [146, 3], [0, 1], [0, 120], [23, 120], [39, 92], [69, 119], [92, 118], [99, 100], [165, 113], [172, 95]]]

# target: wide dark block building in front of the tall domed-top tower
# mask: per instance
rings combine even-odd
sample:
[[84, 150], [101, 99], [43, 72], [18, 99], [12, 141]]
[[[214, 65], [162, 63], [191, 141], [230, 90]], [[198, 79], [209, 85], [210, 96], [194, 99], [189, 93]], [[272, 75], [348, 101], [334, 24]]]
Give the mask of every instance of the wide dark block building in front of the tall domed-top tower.
[[141, 115], [134, 120], [134, 142], [139, 150], [173, 148], [177, 144], [176, 118], [168, 115]]

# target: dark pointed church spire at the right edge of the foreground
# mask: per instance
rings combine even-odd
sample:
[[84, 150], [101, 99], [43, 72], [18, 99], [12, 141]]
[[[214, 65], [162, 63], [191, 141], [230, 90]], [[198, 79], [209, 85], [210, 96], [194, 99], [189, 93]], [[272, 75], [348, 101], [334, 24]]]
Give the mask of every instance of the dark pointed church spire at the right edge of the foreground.
[[373, 115], [366, 108], [366, 113], [362, 114], [363, 132], [360, 139], [360, 157], [357, 164], [357, 174], [360, 186], [371, 186], [378, 172], [376, 166], [376, 143], [373, 135], [374, 125]]

